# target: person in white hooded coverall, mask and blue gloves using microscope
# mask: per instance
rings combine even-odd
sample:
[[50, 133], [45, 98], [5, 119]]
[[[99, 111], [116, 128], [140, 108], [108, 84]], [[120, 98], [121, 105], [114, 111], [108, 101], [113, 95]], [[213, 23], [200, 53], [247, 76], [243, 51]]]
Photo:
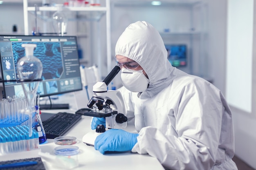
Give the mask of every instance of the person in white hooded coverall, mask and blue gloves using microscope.
[[[115, 53], [138, 134], [107, 130], [96, 150], [149, 154], [170, 170], [237, 170], [232, 114], [218, 88], [171, 66], [161, 36], [145, 21], [125, 29]], [[92, 129], [104, 121], [94, 117]]]

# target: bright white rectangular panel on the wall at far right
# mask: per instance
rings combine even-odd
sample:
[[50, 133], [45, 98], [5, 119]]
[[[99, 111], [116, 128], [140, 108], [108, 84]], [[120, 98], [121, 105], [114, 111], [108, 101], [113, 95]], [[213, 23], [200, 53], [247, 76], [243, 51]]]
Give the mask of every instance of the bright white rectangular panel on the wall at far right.
[[252, 112], [253, 4], [253, 0], [229, 0], [227, 20], [227, 101], [248, 113]]

